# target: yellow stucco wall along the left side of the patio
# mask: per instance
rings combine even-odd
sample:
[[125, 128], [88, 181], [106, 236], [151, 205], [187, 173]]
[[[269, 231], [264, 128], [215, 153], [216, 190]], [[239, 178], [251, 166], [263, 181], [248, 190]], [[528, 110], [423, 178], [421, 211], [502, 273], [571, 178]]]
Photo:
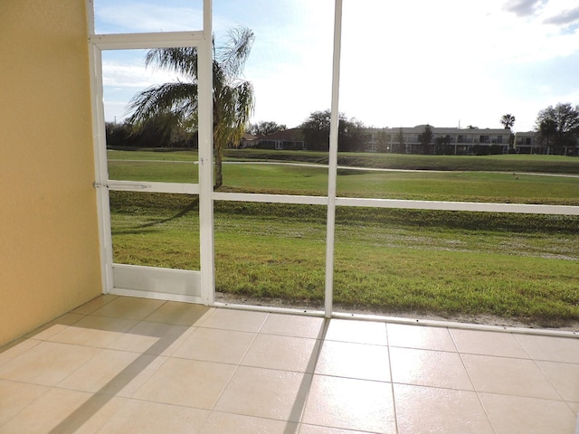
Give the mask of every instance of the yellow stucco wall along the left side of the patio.
[[0, 344], [100, 294], [85, 0], [0, 1]]

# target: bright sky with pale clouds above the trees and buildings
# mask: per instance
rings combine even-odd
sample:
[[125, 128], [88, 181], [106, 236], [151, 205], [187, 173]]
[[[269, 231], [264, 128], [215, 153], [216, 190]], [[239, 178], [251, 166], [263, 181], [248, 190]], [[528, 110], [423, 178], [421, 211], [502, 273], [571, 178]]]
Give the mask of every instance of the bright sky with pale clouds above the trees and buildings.
[[[96, 33], [200, 30], [202, 0], [94, 0]], [[576, 0], [343, 0], [339, 111], [368, 127], [535, 126], [539, 110], [579, 104]], [[216, 44], [255, 34], [242, 79], [252, 122], [297, 127], [331, 106], [333, 0], [214, 0]], [[175, 80], [144, 51], [103, 52], [105, 117]]]

